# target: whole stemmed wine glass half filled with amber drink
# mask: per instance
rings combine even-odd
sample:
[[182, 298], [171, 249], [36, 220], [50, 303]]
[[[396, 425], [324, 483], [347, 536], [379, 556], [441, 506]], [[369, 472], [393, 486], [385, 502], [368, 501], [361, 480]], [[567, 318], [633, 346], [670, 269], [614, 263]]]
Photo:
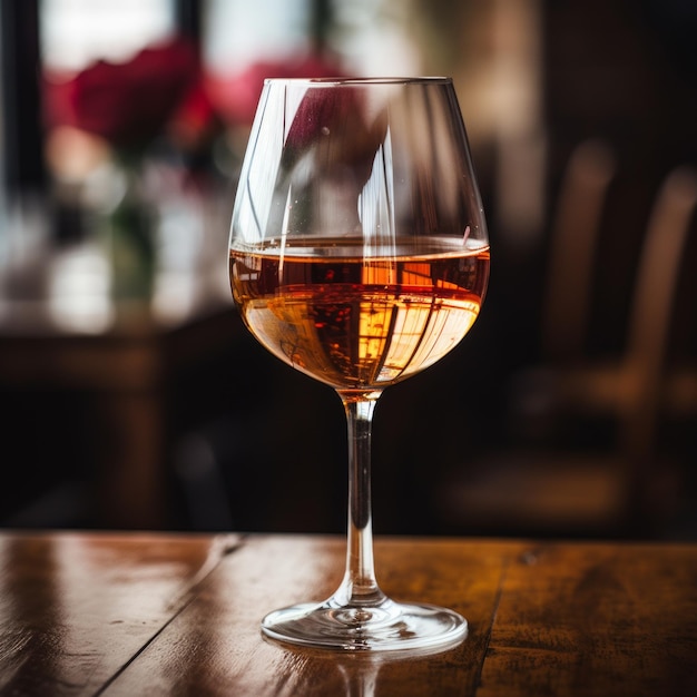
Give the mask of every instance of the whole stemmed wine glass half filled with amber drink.
[[229, 274], [247, 328], [336, 390], [348, 431], [343, 581], [327, 600], [272, 611], [263, 632], [371, 651], [459, 642], [468, 629], [459, 613], [380, 589], [371, 526], [377, 399], [455, 347], [489, 278], [452, 80], [267, 79], [232, 216]]

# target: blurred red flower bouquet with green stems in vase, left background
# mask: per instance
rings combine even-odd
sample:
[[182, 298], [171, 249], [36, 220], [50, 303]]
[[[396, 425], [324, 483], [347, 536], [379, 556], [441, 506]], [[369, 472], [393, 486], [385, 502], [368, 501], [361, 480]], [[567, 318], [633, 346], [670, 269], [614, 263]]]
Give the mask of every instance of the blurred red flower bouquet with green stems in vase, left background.
[[127, 62], [48, 76], [45, 95], [49, 163], [58, 178], [80, 180], [84, 207], [106, 233], [112, 296], [148, 300], [158, 197], [174, 179], [190, 183], [218, 127], [196, 51], [174, 39]]

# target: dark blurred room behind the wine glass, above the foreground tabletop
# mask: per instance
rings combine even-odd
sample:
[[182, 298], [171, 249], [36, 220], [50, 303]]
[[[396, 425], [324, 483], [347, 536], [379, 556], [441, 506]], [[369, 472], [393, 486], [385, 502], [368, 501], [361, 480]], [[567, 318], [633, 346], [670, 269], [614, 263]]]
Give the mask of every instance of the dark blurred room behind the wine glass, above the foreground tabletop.
[[341, 532], [341, 402], [242, 327], [264, 77], [449, 75], [492, 275], [381, 397], [377, 533], [697, 539], [697, 6], [1, 0], [0, 524]]

